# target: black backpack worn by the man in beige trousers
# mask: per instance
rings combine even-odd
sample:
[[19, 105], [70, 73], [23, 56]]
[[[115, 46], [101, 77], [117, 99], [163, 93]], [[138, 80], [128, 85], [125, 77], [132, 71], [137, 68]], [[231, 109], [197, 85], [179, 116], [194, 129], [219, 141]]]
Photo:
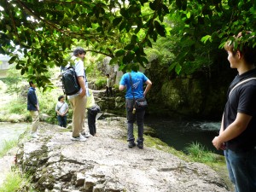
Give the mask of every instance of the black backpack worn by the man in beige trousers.
[[64, 68], [62, 75], [62, 87], [64, 94], [72, 96], [79, 92], [80, 84], [73, 66]]

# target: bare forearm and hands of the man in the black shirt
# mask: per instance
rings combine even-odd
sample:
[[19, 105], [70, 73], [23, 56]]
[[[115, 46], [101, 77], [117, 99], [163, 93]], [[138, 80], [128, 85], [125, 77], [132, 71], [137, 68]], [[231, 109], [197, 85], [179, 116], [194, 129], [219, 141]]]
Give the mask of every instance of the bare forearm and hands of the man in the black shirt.
[[[252, 116], [250, 115], [247, 115], [245, 113], [237, 113], [236, 120], [232, 124], [230, 124], [227, 129], [225, 129], [224, 131], [220, 131], [218, 137], [214, 137], [214, 139], [212, 140], [212, 144], [214, 145], [214, 147], [217, 149], [222, 148], [224, 142], [228, 142], [231, 139], [241, 135], [241, 133], [247, 129], [247, 125], [249, 124], [251, 119]], [[223, 129], [223, 125], [221, 129]]]

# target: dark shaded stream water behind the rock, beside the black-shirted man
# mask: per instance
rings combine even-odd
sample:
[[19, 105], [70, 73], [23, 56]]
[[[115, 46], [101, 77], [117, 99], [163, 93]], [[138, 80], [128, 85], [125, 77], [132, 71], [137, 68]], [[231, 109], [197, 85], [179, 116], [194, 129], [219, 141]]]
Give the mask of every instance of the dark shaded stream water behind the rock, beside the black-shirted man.
[[218, 151], [212, 146], [212, 139], [218, 136], [220, 122], [146, 117], [144, 123], [156, 131], [161, 141], [177, 150], [185, 151], [188, 144], [201, 143], [205, 149], [223, 154], [223, 151]]

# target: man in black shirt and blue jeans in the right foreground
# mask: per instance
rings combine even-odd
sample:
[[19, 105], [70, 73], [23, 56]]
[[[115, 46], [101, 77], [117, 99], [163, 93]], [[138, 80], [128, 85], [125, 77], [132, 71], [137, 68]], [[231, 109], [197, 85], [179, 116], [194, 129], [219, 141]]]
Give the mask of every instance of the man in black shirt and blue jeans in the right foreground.
[[236, 192], [255, 192], [256, 80], [252, 78], [256, 77], [256, 48], [241, 44], [240, 38], [241, 33], [224, 47], [230, 67], [236, 68], [238, 75], [230, 84], [219, 135], [214, 137], [212, 144], [224, 150]]

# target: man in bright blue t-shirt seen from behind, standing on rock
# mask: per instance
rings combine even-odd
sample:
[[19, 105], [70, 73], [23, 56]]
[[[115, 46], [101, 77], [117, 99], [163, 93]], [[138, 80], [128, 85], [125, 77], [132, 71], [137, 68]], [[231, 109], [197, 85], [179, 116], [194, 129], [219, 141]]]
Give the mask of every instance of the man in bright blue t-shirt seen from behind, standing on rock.
[[[143, 90], [143, 84], [147, 84], [146, 89]], [[128, 147], [136, 146], [134, 143], [133, 124], [137, 121], [137, 147], [143, 148], [143, 121], [145, 108], [135, 109], [135, 100], [144, 98], [148, 90], [151, 88], [152, 82], [140, 72], [137, 72], [136, 67], [133, 68], [131, 73], [125, 73], [119, 82], [119, 90], [125, 90], [126, 102], [126, 116], [127, 116], [127, 141]]]

